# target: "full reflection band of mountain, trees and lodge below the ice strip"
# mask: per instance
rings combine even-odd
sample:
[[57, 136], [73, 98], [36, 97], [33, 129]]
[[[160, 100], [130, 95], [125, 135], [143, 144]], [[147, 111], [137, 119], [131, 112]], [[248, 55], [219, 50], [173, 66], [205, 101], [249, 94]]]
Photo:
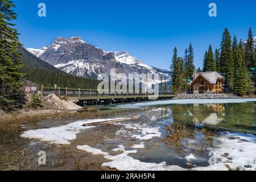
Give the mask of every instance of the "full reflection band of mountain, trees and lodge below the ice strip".
[[256, 130], [255, 102], [237, 104], [171, 104], [149, 106], [145, 109], [114, 109], [114, 115], [140, 115], [147, 122], [173, 119], [191, 126], [234, 131]]

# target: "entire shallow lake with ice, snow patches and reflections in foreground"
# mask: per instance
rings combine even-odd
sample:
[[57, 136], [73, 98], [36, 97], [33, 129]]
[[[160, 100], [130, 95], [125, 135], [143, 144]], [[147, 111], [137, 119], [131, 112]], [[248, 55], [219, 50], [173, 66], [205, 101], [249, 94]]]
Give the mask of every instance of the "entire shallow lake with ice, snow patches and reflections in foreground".
[[[104, 106], [94, 112], [131, 119], [94, 127], [82, 124], [106, 121], [106, 115], [44, 119], [22, 126], [21, 133], [1, 134], [1, 169], [255, 170], [255, 104], [172, 100]], [[39, 151], [46, 152], [46, 165], [38, 165]]]

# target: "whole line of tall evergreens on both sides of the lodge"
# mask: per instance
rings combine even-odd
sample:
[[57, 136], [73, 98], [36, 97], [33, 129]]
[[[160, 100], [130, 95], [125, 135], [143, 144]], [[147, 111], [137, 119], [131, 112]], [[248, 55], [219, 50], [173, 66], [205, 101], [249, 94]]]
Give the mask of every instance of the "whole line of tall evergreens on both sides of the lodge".
[[[193, 64], [193, 48], [185, 49], [184, 59], [177, 55], [177, 48], [174, 48], [172, 56], [171, 74], [172, 91], [184, 92], [191, 81], [195, 66]], [[225, 88], [229, 92], [235, 92], [240, 96], [250, 93], [256, 88], [256, 47], [254, 47], [253, 32], [249, 29], [248, 39], [243, 46], [242, 41], [238, 43], [237, 37], [232, 37], [225, 28], [222, 34], [220, 49], [213, 53], [210, 45], [205, 52], [203, 60], [203, 72], [216, 71], [225, 77]], [[202, 72], [200, 67], [197, 72]], [[254, 86], [253, 86], [254, 84]], [[256, 90], [255, 90], [256, 91]]]

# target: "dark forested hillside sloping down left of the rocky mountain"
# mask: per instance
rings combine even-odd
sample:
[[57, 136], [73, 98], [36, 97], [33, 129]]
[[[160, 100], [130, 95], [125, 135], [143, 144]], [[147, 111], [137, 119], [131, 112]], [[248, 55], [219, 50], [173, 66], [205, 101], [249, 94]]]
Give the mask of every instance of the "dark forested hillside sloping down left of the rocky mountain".
[[23, 72], [26, 73], [24, 76], [26, 80], [51, 87], [57, 84], [68, 88], [97, 89], [99, 82], [97, 80], [69, 75], [40, 60], [23, 47], [20, 48], [19, 52], [22, 54]]

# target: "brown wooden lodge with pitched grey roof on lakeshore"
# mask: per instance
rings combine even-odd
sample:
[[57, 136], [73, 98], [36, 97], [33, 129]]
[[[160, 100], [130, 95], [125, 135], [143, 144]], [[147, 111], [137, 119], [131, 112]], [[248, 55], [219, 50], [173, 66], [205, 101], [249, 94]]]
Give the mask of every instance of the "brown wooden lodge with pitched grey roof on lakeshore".
[[217, 72], [201, 72], [193, 74], [190, 90], [197, 93], [222, 93], [224, 77]]

